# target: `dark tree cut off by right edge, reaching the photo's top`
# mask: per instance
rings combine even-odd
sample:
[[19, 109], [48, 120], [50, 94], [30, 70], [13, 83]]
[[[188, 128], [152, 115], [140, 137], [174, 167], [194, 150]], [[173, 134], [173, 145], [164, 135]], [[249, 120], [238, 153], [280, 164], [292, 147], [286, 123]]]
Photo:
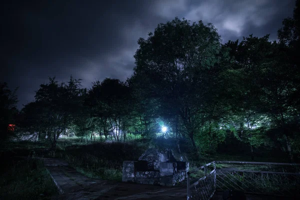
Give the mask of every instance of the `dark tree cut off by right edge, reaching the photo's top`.
[[[287, 92], [286, 105], [288, 105], [289, 114], [282, 115], [282, 131], [286, 134], [286, 140], [290, 141], [291, 147], [287, 146], [288, 151], [300, 152], [300, 134], [299, 134], [299, 109], [300, 109], [300, 1], [296, 0], [293, 10], [293, 17], [287, 17], [282, 21], [282, 27], [278, 30], [277, 35], [282, 53], [282, 66], [285, 66], [282, 73], [284, 79], [289, 81], [288, 87], [284, 90]], [[284, 60], [284, 62], [283, 62]], [[283, 121], [284, 120], [284, 121]], [[290, 138], [290, 139], [289, 139]], [[290, 154], [291, 158], [292, 155]]]

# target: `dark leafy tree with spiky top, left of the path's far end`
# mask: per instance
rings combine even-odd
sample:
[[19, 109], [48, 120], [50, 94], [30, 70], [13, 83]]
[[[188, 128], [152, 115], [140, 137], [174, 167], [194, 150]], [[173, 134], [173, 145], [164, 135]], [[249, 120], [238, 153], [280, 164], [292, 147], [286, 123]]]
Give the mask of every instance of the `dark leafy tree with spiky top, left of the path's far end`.
[[70, 77], [67, 84], [59, 83], [55, 78], [41, 84], [36, 91], [35, 100], [23, 108], [25, 127], [46, 135], [51, 148], [55, 149], [59, 135], [66, 131], [78, 117], [77, 106], [83, 101], [84, 89], [80, 80]]

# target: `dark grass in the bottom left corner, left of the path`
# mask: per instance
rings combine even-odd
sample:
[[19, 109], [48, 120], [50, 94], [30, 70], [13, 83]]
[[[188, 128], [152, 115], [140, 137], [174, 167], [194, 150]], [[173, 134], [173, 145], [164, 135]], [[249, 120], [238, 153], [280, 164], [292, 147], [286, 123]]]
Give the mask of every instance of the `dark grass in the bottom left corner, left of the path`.
[[0, 199], [51, 199], [57, 194], [42, 160], [0, 158]]

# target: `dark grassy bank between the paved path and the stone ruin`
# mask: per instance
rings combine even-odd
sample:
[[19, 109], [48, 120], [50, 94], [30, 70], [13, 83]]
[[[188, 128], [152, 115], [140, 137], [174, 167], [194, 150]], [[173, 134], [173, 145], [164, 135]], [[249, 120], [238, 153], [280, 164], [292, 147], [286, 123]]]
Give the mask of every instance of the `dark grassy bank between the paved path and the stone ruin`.
[[145, 146], [126, 142], [72, 143], [64, 146], [63, 158], [77, 171], [91, 178], [122, 180], [122, 162], [137, 160]]

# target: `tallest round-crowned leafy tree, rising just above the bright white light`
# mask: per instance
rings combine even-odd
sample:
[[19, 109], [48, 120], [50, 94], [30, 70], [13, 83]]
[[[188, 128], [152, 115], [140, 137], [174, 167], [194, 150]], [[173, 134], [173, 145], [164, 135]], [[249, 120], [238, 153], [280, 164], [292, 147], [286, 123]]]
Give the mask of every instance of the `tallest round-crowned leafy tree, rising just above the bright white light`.
[[131, 79], [143, 96], [158, 102], [156, 113], [178, 117], [196, 148], [194, 135], [208, 120], [208, 107], [213, 108], [207, 104], [213, 103], [220, 36], [210, 23], [177, 17], [158, 24], [148, 36], [138, 39]]

